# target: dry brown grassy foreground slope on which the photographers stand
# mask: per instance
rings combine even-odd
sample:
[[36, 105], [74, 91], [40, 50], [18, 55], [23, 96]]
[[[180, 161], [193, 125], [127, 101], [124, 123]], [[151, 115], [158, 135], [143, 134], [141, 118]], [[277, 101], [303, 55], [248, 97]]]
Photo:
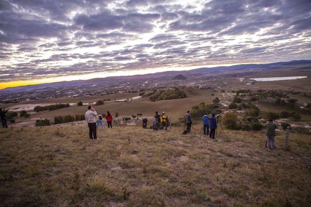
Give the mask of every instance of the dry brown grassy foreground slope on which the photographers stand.
[[309, 206], [310, 136], [138, 126], [0, 128], [0, 206]]

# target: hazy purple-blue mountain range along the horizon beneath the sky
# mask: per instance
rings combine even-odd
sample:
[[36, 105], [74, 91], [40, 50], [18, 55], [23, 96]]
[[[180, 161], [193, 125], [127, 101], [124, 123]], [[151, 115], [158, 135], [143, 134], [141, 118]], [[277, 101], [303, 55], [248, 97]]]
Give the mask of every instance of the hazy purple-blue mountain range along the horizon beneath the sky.
[[[189, 75], [189, 74], [198, 74], [198, 73], [208, 73], [212, 71], [226, 71], [226, 70], [243, 70], [243, 69], [256, 69], [256, 68], [269, 68], [269, 67], [280, 67], [280, 66], [295, 66], [295, 65], [304, 65], [311, 64], [311, 60], [294, 60], [289, 62], [276, 62], [269, 64], [243, 64], [243, 65], [232, 65], [232, 66], [219, 66], [212, 68], [197, 68], [193, 70], [184, 70], [184, 71], [165, 71], [153, 74], [144, 74], [144, 75], [131, 75], [131, 76], [114, 76], [114, 77], [106, 77], [106, 78], [95, 78], [89, 80], [72, 80], [72, 81], [61, 81], [54, 83], [41, 83], [35, 85], [26, 85], [26, 86], [16, 86], [16, 87], [8, 87], [0, 90], [0, 93], [7, 92], [23, 92], [23, 91], [31, 91], [31, 90], [40, 90], [47, 88], [59, 88], [59, 87], [68, 87], [68, 86], [76, 86], [76, 85], [85, 85], [91, 83], [103, 83], [103, 82], [111, 82], [118, 80], [126, 80], [126, 79], [142, 79], [142, 78], [151, 78], [151, 77], [167, 77], [167, 76], [176, 76], [179, 74]], [[184, 77], [184, 76], [183, 76]], [[181, 76], [177, 77], [182, 78]]]

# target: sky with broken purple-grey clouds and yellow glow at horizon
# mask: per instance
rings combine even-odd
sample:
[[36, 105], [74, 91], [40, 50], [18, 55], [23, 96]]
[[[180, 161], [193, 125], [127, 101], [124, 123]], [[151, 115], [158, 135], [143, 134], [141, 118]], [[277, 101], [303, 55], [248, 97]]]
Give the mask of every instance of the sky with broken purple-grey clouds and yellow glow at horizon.
[[310, 0], [0, 0], [0, 88], [311, 59], [310, 48]]

